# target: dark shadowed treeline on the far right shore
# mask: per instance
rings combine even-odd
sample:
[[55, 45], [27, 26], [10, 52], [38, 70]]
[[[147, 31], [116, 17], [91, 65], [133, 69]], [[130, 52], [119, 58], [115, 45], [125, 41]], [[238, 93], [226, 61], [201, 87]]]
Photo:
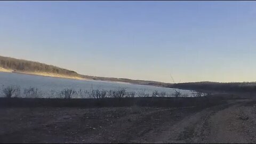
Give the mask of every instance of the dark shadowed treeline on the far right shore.
[[218, 82], [194, 82], [194, 83], [177, 83], [169, 87], [187, 90], [207, 90], [222, 92], [256, 92], [256, 82], [243, 83], [218, 83]]

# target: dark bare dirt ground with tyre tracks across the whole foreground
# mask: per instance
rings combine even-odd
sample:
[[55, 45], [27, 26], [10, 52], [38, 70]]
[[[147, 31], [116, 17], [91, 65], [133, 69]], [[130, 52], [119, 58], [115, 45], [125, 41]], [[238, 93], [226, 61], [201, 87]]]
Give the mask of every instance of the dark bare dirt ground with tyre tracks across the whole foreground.
[[198, 108], [1, 108], [0, 142], [255, 143], [256, 102]]

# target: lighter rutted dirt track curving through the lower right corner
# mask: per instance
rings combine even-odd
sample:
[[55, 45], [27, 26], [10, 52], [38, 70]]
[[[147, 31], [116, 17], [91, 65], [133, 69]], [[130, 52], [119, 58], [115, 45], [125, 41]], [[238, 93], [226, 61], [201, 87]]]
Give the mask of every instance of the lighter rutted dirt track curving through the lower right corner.
[[[159, 134], [154, 143], [249, 143], [255, 142], [255, 107], [246, 100], [215, 106], [187, 116]], [[250, 109], [245, 110], [245, 109]], [[246, 116], [245, 116], [246, 115]], [[242, 118], [241, 118], [242, 116]], [[249, 121], [250, 120], [250, 121]], [[250, 134], [248, 132], [251, 132]]]

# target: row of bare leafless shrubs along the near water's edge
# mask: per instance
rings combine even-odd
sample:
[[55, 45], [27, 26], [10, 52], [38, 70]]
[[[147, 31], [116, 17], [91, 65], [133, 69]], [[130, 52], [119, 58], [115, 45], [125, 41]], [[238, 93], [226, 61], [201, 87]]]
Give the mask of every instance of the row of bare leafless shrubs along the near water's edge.
[[[23, 91], [23, 93], [20, 93]], [[45, 95], [47, 94], [47, 95]], [[194, 97], [198, 97], [198, 95], [203, 95], [201, 92], [194, 92]], [[204, 94], [206, 96], [207, 94]], [[179, 90], [175, 90], [174, 93], [166, 93], [154, 90], [151, 94], [147, 93], [145, 90], [138, 91], [127, 91], [125, 88], [118, 87], [116, 90], [99, 90], [93, 89], [90, 90], [75, 90], [75, 89], [63, 89], [60, 91], [51, 90], [50, 93], [43, 92], [39, 90], [37, 87], [28, 87], [25, 89], [21, 89], [20, 86], [10, 85], [0, 87], [0, 97], [12, 98], [59, 98], [59, 99], [71, 99], [71, 98], [95, 98], [95, 99], [103, 99], [103, 98], [146, 98], [146, 97], [188, 97], [188, 94], [182, 94]]]

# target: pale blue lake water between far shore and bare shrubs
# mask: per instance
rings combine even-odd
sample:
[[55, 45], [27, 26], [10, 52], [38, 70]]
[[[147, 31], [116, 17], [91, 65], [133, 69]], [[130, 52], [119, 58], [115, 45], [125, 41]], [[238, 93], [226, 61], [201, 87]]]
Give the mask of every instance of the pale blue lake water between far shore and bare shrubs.
[[[129, 83], [118, 83], [118, 82], [106, 82], [106, 81], [85, 81], [77, 79], [66, 79], [66, 78], [55, 78], [55, 77], [45, 77], [45, 76], [35, 76], [26, 74], [15, 74], [15, 73], [5, 73], [0, 72], [0, 97], [4, 97], [3, 89], [6, 86], [19, 86], [20, 94], [18, 97], [25, 97], [23, 93], [24, 89], [29, 87], [36, 87], [40, 92], [40, 97], [43, 98], [54, 98], [54, 92], [61, 91], [63, 89], [74, 89], [78, 90], [117, 90], [126, 89], [127, 92], [139, 92], [144, 91], [149, 95], [153, 91], [165, 92], [166, 94], [174, 93], [175, 89], [166, 87], [157, 87], [149, 85], [137, 85]], [[177, 90], [177, 89], [176, 89]], [[182, 94], [188, 94], [189, 97], [192, 95], [192, 91], [180, 90]], [[74, 98], [81, 98], [78, 94], [74, 95]], [[84, 98], [84, 97], [83, 97]]]

